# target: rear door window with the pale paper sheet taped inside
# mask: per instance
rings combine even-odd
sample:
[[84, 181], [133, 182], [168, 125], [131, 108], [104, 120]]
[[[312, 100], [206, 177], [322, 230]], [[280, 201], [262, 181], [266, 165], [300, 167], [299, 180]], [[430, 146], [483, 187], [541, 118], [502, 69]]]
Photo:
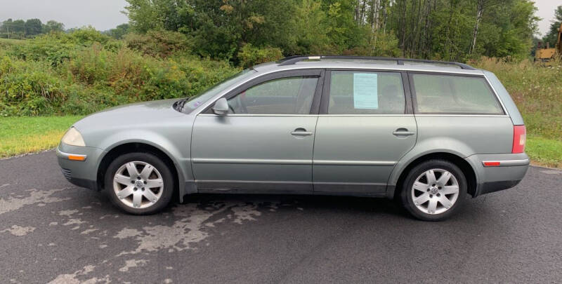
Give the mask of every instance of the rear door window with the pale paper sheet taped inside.
[[332, 71], [328, 114], [404, 114], [402, 75], [395, 72]]

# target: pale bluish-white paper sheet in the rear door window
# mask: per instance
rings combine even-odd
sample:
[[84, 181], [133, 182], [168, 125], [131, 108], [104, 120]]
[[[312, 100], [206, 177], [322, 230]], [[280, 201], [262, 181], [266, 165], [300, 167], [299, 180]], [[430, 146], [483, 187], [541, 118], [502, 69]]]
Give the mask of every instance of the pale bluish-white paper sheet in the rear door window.
[[353, 74], [353, 108], [378, 109], [379, 94], [376, 73]]

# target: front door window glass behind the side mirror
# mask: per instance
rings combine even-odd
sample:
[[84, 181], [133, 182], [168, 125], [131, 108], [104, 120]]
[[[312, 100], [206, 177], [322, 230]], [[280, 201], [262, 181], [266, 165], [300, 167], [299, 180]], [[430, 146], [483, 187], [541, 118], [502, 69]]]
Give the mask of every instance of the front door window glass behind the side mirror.
[[228, 100], [230, 114], [310, 114], [318, 77], [266, 81]]

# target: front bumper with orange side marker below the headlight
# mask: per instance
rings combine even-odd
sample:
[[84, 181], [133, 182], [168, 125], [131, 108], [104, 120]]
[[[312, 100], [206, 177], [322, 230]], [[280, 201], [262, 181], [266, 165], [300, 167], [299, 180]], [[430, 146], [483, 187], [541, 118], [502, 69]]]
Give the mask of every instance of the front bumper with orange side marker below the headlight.
[[58, 165], [65, 178], [79, 187], [98, 190], [98, 166], [105, 151], [93, 147], [75, 147], [60, 143]]

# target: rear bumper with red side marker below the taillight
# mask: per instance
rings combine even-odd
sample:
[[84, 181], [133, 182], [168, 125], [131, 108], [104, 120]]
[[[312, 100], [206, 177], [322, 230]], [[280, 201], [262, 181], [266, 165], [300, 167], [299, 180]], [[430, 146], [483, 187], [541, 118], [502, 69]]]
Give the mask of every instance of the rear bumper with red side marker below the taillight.
[[515, 187], [529, 168], [529, 157], [525, 153], [480, 154], [469, 156], [466, 160], [476, 172], [474, 197]]

